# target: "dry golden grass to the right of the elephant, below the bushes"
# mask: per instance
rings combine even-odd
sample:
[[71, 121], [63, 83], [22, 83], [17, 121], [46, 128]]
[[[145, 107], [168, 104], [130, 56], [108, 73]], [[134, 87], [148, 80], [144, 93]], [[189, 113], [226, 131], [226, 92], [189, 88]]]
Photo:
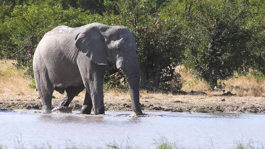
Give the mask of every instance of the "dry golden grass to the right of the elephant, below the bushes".
[[[200, 80], [192, 75], [183, 66], [178, 66], [176, 72], [181, 74], [183, 80], [182, 90], [204, 91], [209, 97], [222, 94], [221, 91], [211, 91], [209, 85], [204, 80]], [[247, 75], [235, 75], [227, 80], [219, 80], [224, 84], [224, 90], [237, 94], [239, 97], [265, 97], [265, 78], [255, 78], [250, 71]]]

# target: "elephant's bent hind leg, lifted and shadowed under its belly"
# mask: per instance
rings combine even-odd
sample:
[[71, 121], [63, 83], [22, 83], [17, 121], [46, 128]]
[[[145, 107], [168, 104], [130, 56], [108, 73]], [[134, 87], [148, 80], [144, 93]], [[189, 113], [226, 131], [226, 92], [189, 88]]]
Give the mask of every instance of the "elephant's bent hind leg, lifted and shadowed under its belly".
[[74, 99], [75, 96], [77, 96], [82, 90], [84, 89], [84, 86], [70, 86], [66, 88], [65, 92], [66, 95], [63, 99], [60, 101], [60, 106], [67, 107], [71, 103], [71, 101]]

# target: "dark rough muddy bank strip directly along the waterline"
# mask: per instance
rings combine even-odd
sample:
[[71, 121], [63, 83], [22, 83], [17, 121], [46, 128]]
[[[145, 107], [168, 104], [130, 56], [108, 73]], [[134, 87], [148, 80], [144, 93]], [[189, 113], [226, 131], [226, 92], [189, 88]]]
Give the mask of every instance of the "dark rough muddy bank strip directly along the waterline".
[[[59, 102], [53, 102], [53, 108]], [[82, 103], [73, 101], [70, 105], [73, 110], [81, 110]], [[37, 109], [41, 110], [41, 102], [0, 102], [0, 110], [14, 109]], [[107, 111], [132, 111], [131, 103], [105, 103]], [[167, 111], [167, 112], [198, 112], [198, 113], [265, 113], [265, 106], [259, 105], [203, 105], [203, 106], [187, 106], [182, 104], [176, 105], [156, 105], [152, 103], [141, 103], [141, 109], [144, 111]]]

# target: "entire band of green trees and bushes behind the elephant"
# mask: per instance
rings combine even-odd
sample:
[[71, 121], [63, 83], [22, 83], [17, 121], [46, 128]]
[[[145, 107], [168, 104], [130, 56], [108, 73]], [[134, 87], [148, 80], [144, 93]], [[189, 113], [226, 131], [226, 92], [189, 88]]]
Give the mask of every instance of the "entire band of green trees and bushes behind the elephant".
[[[211, 87], [249, 69], [265, 74], [264, 0], [0, 0], [0, 58], [32, 76], [42, 36], [57, 25], [93, 22], [131, 29], [147, 90], [180, 89], [177, 65]], [[110, 86], [123, 78], [111, 69]]]

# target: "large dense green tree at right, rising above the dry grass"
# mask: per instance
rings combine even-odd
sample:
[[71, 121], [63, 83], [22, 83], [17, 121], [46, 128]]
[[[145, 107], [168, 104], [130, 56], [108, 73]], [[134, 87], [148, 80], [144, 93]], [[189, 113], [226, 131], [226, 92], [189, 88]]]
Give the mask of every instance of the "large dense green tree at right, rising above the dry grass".
[[211, 87], [218, 79], [247, 70], [252, 16], [246, 0], [189, 0], [184, 11], [185, 60]]

